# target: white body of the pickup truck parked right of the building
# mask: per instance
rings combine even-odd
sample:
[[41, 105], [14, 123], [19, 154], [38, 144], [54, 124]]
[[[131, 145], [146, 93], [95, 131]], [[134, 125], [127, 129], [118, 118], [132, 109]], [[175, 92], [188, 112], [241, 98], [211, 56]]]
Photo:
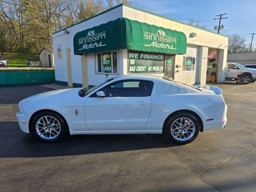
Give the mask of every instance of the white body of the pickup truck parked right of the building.
[[246, 68], [239, 63], [228, 62], [226, 69], [226, 78], [237, 79], [238, 73], [249, 73], [253, 79], [256, 79], [256, 69]]

